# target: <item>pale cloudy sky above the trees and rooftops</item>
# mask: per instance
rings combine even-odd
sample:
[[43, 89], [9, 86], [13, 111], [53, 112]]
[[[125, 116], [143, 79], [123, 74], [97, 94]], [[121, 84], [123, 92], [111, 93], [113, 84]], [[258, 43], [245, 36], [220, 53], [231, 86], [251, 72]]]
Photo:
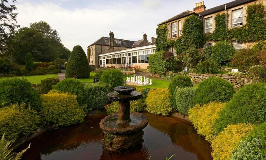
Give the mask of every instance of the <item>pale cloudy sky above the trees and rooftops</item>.
[[[206, 9], [232, 0], [205, 0]], [[17, 0], [17, 24], [29, 27], [45, 21], [56, 29], [69, 50], [87, 46], [101, 37], [136, 41], [146, 33], [156, 38], [157, 24], [184, 11], [193, 11], [198, 0]]]

